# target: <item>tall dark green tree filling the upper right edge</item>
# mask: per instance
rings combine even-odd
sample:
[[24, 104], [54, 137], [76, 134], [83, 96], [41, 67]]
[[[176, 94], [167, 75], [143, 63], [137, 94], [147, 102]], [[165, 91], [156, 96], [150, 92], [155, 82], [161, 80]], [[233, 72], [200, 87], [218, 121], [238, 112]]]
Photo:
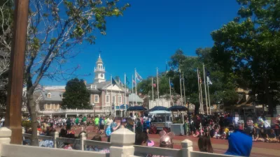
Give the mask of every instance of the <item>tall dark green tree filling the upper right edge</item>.
[[211, 56], [224, 68], [239, 76], [237, 84], [252, 89], [269, 114], [279, 98], [280, 81], [280, 1], [237, 0], [238, 16], [211, 36]]

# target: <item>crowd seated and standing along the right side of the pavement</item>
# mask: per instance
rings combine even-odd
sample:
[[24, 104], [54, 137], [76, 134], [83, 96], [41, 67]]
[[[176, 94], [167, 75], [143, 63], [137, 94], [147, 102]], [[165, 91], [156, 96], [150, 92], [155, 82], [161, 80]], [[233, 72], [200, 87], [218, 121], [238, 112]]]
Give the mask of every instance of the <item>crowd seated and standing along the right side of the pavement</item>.
[[259, 115], [257, 119], [248, 118], [246, 124], [237, 121], [230, 114], [216, 114], [206, 116], [205, 114], [196, 115], [189, 121], [185, 119], [185, 135], [207, 134], [209, 137], [227, 140], [235, 130], [242, 130], [251, 135], [253, 142], [279, 142], [280, 140], [280, 114], [269, 123], [265, 117]]

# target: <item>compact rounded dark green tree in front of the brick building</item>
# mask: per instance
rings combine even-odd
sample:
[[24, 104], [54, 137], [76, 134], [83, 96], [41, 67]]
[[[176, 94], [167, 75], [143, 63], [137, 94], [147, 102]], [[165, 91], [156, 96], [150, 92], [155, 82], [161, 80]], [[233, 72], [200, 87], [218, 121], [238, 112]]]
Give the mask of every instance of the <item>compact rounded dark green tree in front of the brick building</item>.
[[63, 109], [92, 109], [90, 106], [90, 93], [83, 80], [74, 78], [66, 83], [62, 99]]

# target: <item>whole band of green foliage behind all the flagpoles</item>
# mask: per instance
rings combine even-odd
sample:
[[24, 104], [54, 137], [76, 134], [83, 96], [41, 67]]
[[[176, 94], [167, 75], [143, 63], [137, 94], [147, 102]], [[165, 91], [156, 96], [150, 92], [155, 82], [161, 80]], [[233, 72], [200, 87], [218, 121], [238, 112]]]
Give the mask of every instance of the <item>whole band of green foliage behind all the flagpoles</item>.
[[[197, 80], [197, 68], [200, 71], [200, 76], [203, 80], [203, 63], [207, 67], [207, 70], [211, 73], [211, 82], [213, 84], [209, 85], [209, 93], [211, 104], [217, 104], [222, 102], [224, 105], [235, 105], [239, 98], [237, 92], [235, 91], [236, 85], [235, 78], [228, 72], [223, 71], [214, 59], [211, 57], [211, 48], [198, 48], [196, 50], [197, 57], [189, 57], [183, 53], [183, 50], [176, 50], [176, 52], [170, 57], [169, 66], [170, 69], [168, 73], [162, 73], [159, 75], [159, 91], [160, 96], [165, 96], [169, 98], [169, 77], [171, 82], [174, 84], [172, 87], [172, 95], [174, 98], [174, 103], [178, 95], [186, 95], [186, 98], [190, 98], [190, 103], [197, 106], [200, 105], [199, 94], [198, 94], [198, 80]], [[183, 80], [180, 86], [180, 73], [181, 77], [184, 77], [185, 91], [183, 90]], [[156, 77], [153, 77], [154, 83], [156, 83]], [[203, 80], [204, 81], [204, 80]], [[143, 80], [137, 86], [137, 90], [141, 91], [143, 94], [150, 96], [152, 94], [152, 80], [151, 77]], [[202, 84], [202, 94], [204, 95], [204, 84]], [[154, 88], [154, 98], [157, 98], [157, 88]], [[204, 99], [204, 104], [206, 104]]]

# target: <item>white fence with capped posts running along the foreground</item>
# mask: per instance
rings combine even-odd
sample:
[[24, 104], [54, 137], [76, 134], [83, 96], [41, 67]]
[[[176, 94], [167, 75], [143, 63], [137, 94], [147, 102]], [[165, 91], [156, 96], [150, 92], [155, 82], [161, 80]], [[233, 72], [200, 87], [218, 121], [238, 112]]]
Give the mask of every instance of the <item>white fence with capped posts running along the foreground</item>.
[[[55, 147], [58, 142], [66, 143], [79, 143], [81, 150], [66, 150], [57, 148], [45, 147], [31, 147], [10, 144], [11, 130], [8, 128], [0, 128], [0, 156], [3, 157], [128, 157], [137, 154], [155, 154], [160, 156], [173, 156], [173, 157], [226, 157], [223, 154], [208, 154], [198, 151], [193, 151], [193, 142], [190, 140], [183, 140], [181, 142], [182, 149], [165, 149], [158, 147], [144, 147], [135, 146], [135, 134], [126, 128], [116, 130], [111, 134], [111, 142], [98, 142], [86, 140], [85, 134], [82, 133], [80, 139], [67, 139], [59, 138], [55, 133], [54, 137], [38, 136], [41, 140], [53, 140]], [[31, 137], [29, 134], [23, 134], [24, 137]], [[97, 151], [83, 151], [85, 146], [98, 146], [109, 148], [110, 153], [101, 153]]]

